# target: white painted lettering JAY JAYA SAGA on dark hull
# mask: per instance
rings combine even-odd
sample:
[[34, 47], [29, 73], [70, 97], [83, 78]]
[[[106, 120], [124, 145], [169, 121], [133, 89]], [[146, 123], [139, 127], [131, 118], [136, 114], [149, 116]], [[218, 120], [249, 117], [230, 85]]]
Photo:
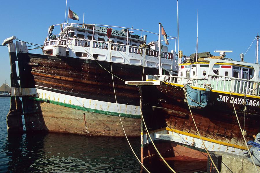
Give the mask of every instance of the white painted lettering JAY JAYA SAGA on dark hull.
[[219, 98], [217, 98], [218, 101], [224, 101], [224, 102], [230, 102], [234, 104], [239, 104], [239, 105], [248, 105], [248, 106], [258, 106], [260, 107], [260, 101], [254, 100], [254, 99], [244, 99], [244, 98], [237, 98], [237, 97], [232, 97], [230, 99], [230, 96], [226, 95], [219, 95]]

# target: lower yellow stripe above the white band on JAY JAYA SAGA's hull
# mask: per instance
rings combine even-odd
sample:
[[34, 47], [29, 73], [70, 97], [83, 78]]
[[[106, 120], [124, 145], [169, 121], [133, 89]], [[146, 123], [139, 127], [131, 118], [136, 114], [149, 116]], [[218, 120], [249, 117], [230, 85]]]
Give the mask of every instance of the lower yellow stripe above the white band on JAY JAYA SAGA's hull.
[[[193, 138], [198, 138], [198, 139], [200, 139], [200, 137], [199, 137], [198, 135], [194, 135], [194, 134], [187, 133], [187, 132], [184, 132], [184, 131], [179, 131], [179, 130], [176, 130], [176, 129], [171, 129], [171, 128], [169, 128], [169, 127], [166, 127], [166, 130], [172, 131], [172, 132], [175, 132], [175, 133], [179, 133], [179, 134], [182, 134], [182, 135], [190, 136], [190, 137], [193, 137]], [[202, 138], [203, 140], [205, 140], [205, 141], [208, 141], [208, 142], [213, 142], [213, 143], [220, 144], [220, 145], [231, 146], [231, 147], [234, 147], [234, 148], [246, 150], [246, 147], [245, 147], [245, 146], [235, 145], [235, 144], [229, 144], [229, 143], [227, 143], [227, 142], [222, 142], [222, 141], [218, 141], [218, 140], [214, 140], [214, 139], [209, 139], [209, 138], [205, 138], [205, 137], [203, 137], [203, 136], [202, 136], [201, 138]]]

